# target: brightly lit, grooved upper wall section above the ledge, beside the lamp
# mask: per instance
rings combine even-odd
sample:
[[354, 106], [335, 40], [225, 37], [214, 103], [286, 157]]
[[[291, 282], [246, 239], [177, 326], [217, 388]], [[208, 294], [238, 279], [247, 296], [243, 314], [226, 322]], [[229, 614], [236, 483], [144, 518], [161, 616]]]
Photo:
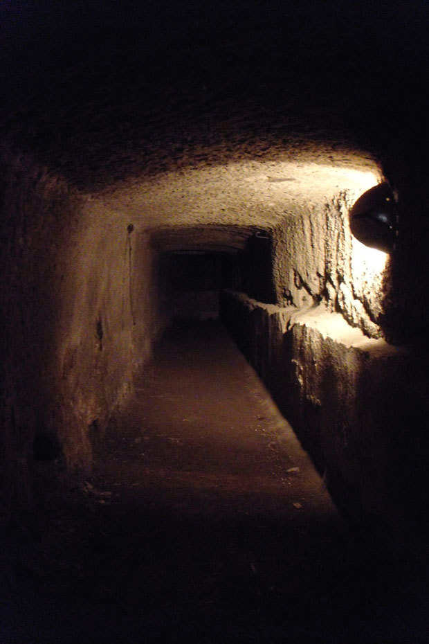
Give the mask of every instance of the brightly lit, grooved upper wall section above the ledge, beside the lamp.
[[369, 337], [380, 337], [385, 272], [372, 266], [374, 251], [350, 233], [348, 211], [358, 196], [345, 192], [329, 203], [286, 216], [277, 226], [277, 302], [298, 308], [322, 302]]

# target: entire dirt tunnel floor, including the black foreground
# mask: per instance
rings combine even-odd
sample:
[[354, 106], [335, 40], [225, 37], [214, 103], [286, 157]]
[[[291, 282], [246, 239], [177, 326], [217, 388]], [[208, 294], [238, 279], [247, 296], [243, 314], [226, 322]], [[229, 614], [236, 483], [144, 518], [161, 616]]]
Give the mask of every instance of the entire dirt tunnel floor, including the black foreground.
[[354, 537], [215, 322], [174, 328], [88, 481], [1, 560], [1, 644], [429, 642], [421, 591]]

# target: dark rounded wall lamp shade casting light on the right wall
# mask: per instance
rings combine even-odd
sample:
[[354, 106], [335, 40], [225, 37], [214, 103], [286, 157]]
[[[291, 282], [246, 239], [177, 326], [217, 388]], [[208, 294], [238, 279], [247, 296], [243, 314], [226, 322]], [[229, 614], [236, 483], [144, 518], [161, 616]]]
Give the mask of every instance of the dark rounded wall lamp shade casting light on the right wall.
[[398, 213], [389, 184], [384, 182], [363, 193], [349, 212], [349, 222], [359, 242], [391, 253], [398, 235]]

